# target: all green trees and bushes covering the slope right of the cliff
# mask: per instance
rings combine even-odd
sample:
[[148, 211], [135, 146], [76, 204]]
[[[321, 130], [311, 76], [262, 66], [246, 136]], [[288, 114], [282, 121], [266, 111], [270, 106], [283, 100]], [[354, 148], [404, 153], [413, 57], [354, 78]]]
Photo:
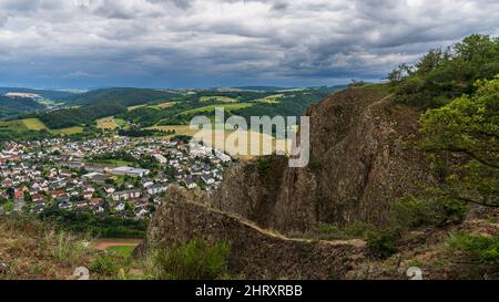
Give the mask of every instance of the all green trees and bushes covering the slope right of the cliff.
[[[468, 37], [446, 52], [430, 51], [416, 67], [395, 70], [389, 79], [398, 102], [428, 108], [415, 147], [427, 155], [436, 184], [421, 184], [416, 196], [394, 202], [390, 225], [371, 232], [369, 246], [389, 257], [408, 232], [459, 225], [471, 209], [497, 225], [499, 39]], [[485, 258], [478, 254], [497, 261], [497, 236], [464, 233], [452, 242], [479, 262]]]

